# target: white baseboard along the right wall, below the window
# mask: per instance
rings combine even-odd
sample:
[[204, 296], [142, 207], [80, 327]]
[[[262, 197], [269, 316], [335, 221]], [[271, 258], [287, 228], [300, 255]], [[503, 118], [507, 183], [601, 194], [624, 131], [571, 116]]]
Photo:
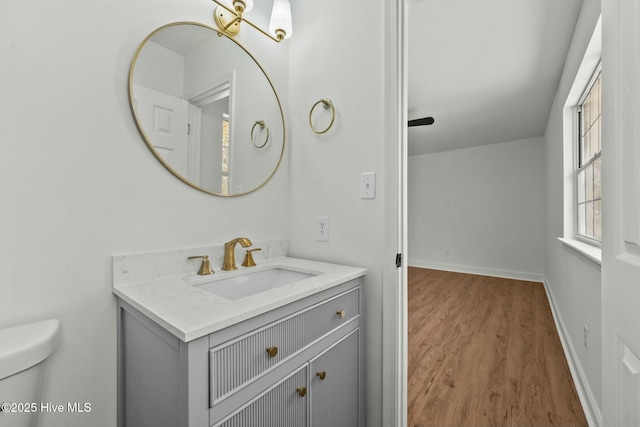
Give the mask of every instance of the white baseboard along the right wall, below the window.
[[553, 292], [551, 292], [551, 288], [549, 288], [546, 278], [544, 280], [544, 289], [547, 292], [547, 298], [549, 299], [551, 313], [553, 314], [553, 319], [556, 323], [558, 336], [560, 337], [562, 349], [564, 350], [565, 358], [569, 364], [569, 370], [571, 371], [573, 383], [576, 386], [576, 391], [578, 392], [578, 398], [582, 404], [584, 415], [587, 418], [587, 423], [589, 424], [589, 427], [601, 427], [602, 413], [600, 412], [600, 408], [593, 396], [591, 387], [589, 387], [589, 382], [584, 374], [584, 370], [582, 369], [582, 365], [580, 364], [580, 360], [576, 354], [573, 342], [569, 338], [569, 331], [564, 324], [564, 320], [562, 320], [562, 315], [558, 311], [555, 298], [553, 297]]

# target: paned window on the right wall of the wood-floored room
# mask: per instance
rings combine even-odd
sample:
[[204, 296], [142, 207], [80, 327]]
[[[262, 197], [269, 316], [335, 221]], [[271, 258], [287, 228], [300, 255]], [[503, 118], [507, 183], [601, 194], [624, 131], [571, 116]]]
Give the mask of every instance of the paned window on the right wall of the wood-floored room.
[[602, 240], [600, 76], [598, 67], [578, 103], [576, 233], [592, 242]]

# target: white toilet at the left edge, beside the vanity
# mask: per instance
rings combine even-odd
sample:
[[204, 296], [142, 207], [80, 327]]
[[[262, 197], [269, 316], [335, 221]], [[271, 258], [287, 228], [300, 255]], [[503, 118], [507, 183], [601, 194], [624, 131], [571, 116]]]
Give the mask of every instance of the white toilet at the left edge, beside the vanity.
[[45, 362], [59, 341], [58, 319], [0, 330], [0, 427], [37, 426]]

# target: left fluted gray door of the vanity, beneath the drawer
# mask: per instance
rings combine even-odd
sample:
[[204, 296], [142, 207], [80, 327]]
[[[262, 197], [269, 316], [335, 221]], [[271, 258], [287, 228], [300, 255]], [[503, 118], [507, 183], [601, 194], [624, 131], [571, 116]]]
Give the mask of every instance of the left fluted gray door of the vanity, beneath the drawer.
[[215, 427], [305, 427], [307, 367], [301, 367]]

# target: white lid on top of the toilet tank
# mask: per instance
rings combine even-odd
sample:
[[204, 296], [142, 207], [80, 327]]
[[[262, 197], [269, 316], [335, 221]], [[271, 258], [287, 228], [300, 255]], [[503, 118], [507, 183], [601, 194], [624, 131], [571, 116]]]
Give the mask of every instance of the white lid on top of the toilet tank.
[[0, 380], [42, 362], [59, 341], [58, 319], [0, 329]]

